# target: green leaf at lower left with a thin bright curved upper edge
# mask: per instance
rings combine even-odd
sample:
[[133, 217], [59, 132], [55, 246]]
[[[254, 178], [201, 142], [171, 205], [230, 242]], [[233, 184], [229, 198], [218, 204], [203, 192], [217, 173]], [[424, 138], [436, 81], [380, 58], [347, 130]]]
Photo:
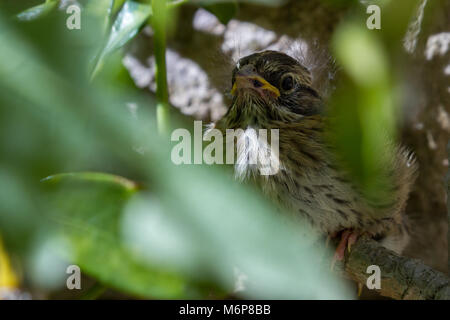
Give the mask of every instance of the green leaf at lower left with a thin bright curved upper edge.
[[174, 272], [142, 262], [124, 246], [121, 219], [137, 184], [106, 173], [58, 174], [43, 180], [48, 216], [72, 251], [69, 259], [103, 284], [141, 297], [198, 297]]

